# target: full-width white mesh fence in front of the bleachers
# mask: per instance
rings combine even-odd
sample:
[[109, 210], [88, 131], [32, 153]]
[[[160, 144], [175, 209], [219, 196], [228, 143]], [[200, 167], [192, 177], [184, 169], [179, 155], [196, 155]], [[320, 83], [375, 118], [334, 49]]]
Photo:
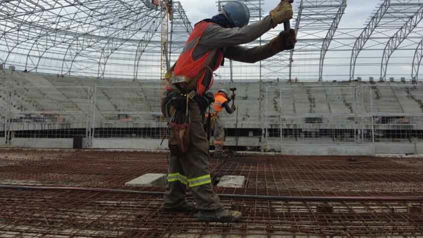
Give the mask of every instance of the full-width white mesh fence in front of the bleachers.
[[[238, 146], [261, 151], [353, 146], [375, 152], [378, 143], [418, 147], [423, 142], [421, 85], [262, 88], [250, 85], [245, 91], [257, 95], [237, 99], [237, 123], [235, 115], [223, 116], [227, 145], [237, 139]], [[113, 139], [121, 142], [115, 147], [125, 148], [124, 140], [161, 139], [166, 132], [160, 87], [13, 86], [0, 87], [0, 92], [0, 145], [83, 138], [86, 148], [95, 148], [96, 140]]]

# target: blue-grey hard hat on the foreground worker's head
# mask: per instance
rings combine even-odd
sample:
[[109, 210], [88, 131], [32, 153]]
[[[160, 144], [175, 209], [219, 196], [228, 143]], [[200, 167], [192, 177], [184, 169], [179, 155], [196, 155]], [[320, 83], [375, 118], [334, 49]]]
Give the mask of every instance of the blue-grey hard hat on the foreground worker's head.
[[244, 27], [250, 21], [250, 11], [242, 2], [231, 1], [227, 2], [221, 10], [221, 13], [232, 22], [235, 27]]

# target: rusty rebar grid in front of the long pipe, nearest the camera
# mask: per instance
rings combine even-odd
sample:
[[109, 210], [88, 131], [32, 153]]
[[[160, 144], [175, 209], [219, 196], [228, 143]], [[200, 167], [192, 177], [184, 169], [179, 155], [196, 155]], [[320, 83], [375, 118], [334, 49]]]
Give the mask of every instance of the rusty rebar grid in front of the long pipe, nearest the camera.
[[[0, 195], [0, 237], [281, 237], [283, 235], [423, 235], [421, 213], [410, 202], [222, 200], [243, 212], [234, 223], [197, 222], [166, 212], [161, 197], [75, 191], [17, 191]], [[223, 236], [225, 235], [225, 236]], [[230, 236], [229, 236], [230, 235]]]

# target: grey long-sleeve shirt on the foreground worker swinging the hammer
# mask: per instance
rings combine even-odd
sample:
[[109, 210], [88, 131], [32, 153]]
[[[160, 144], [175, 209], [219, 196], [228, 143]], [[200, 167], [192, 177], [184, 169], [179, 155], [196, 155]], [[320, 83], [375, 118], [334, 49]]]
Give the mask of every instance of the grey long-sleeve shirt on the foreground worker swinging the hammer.
[[193, 52], [196, 56], [204, 55], [210, 49], [223, 48], [225, 58], [245, 63], [255, 63], [276, 54], [269, 48], [269, 44], [247, 48], [240, 46], [258, 39], [272, 28], [270, 16], [263, 20], [247, 25], [243, 28], [223, 28], [217, 24], [207, 27], [197, 48]]

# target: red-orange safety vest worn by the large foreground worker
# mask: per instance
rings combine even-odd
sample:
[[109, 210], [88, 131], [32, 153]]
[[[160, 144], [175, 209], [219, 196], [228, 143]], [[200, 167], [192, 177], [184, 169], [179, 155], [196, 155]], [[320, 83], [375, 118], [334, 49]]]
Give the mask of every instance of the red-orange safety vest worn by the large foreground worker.
[[[223, 60], [223, 51], [221, 49], [210, 49], [199, 59], [193, 59], [193, 52], [200, 42], [201, 36], [206, 28], [212, 24], [214, 23], [202, 21], [195, 25], [173, 71], [177, 76], [185, 76], [188, 78], [198, 77], [196, 91], [199, 95], [202, 95], [210, 89], [213, 84], [212, 72], [220, 67]], [[211, 71], [209, 71], [206, 77], [207, 69]]]

